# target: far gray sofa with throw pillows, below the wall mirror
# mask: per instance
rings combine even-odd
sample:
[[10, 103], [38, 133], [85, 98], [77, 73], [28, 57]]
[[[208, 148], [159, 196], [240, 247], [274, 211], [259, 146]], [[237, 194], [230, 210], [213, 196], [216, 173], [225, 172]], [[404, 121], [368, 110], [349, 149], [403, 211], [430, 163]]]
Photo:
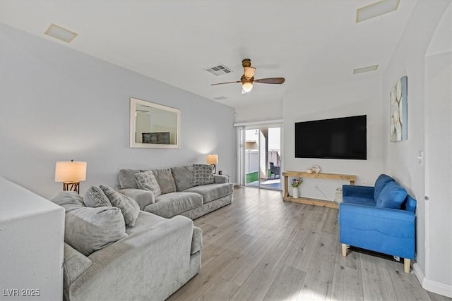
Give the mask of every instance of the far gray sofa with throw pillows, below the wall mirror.
[[213, 175], [208, 164], [119, 171], [119, 192], [134, 199], [141, 210], [165, 218], [196, 219], [231, 204], [233, 185], [227, 182], [227, 176]]

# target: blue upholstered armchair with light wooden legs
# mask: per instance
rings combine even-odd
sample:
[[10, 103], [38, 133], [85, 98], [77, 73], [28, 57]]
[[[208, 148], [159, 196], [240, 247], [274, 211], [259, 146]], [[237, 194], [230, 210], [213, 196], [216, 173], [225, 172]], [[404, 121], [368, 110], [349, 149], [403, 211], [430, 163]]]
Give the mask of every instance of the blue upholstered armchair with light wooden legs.
[[410, 273], [415, 259], [416, 200], [390, 176], [380, 175], [374, 187], [343, 185], [339, 205], [342, 254], [351, 245], [404, 259]]

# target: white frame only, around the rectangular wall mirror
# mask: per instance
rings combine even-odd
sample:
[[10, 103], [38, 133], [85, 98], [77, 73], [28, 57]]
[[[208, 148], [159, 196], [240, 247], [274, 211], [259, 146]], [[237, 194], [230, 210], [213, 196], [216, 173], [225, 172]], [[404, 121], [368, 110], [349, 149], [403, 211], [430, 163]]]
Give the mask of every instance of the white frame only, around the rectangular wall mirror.
[[[150, 106], [151, 108], [160, 109], [172, 113], [177, 113], [177, 134], [176, 144], [163, 145], [153, 143], [138, 143], [136, 142], [136, 105]], [[130, 147], [137, 148], [155, 148], [155, 149], [179, 149], [180, 148], [180, 124], [181, 124], [181, 110], [174, 109], [169, 106], [163, 106], [162, 104], [155, 104], [153, 102], [146, 102], [145, 100], [130, 98]]]

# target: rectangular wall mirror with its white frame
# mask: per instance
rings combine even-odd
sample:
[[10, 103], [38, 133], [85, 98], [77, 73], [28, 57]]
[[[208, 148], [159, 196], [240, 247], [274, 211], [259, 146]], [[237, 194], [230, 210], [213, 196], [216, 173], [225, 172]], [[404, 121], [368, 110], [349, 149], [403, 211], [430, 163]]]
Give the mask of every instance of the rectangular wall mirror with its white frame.
[[130, 98], [130, 147], [179, 148], [179, 109]]

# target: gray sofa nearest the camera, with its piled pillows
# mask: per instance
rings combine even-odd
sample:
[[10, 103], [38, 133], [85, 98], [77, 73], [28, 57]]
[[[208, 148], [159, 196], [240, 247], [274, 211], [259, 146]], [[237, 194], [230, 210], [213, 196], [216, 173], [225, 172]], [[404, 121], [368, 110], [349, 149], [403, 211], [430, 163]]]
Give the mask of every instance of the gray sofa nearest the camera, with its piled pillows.
[[121, 206], [86, 201], [76, 192], [52, 199], [66, 210], [64, 300], [165, 300], [198, 274], [202, 231], [191, 219], [137, 210], [126, 226]]

